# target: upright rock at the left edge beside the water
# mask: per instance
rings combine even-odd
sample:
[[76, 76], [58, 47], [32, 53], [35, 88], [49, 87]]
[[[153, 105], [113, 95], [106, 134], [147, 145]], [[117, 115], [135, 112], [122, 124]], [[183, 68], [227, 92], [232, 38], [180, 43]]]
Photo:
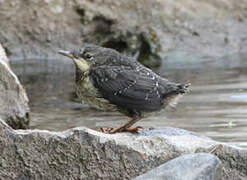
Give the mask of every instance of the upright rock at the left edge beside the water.
[[0, 118], [11, 127], [29, 125], [28, 98], [17, 76], [10, 69], [6, 54], [0, 45]]

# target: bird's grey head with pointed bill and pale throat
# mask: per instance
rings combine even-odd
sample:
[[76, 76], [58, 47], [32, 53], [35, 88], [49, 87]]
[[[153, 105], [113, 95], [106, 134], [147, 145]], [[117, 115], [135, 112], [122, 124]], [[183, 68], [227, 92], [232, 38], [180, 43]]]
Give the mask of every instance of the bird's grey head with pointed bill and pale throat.
[[79, 51], [70, 52], [60, 50], [59, 53], [71, 58], [76, 67], [80, 71], [85, 72], [94, 64], [104, 63], [107, 57], [112, 54], [112, 51], [114, 50], [95, 45], [86, 45], [85, 48]]

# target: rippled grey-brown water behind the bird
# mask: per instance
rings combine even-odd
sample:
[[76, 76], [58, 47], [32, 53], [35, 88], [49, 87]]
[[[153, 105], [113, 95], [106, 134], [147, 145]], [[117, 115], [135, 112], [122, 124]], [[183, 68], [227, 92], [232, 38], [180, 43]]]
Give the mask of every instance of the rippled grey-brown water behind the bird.
[[[31, 128], [65, 130], [77, 126], [115, 127], [127, 118], [81, 104], [74, 93], [74, 67], [62, 60], [12, 62], [31, 106]], [[178, 127], [217, 141], [247, 147], [247, 56], [218, 60], [165, 61], [157, 70], [177, 82], [190, 82], [192, 91], [176, 109], [141, 120], [143, 127]]]

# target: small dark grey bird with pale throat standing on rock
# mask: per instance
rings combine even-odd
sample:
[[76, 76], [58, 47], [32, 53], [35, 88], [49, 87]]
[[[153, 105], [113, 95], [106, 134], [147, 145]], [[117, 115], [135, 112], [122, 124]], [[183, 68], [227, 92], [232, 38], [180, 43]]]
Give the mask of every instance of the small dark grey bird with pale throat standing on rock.
[[170, 82], [133, 57], [111, 48], [86, 44], [80, 50], [59, 53], [75, 64], [75, 91], [81, 101], [130, 117], [119, 127], [102, 130], [110, 134], [138, 132], [142, 127], [131, 128], [133, 124], [173, 106], [190, 89], [190, 83]]

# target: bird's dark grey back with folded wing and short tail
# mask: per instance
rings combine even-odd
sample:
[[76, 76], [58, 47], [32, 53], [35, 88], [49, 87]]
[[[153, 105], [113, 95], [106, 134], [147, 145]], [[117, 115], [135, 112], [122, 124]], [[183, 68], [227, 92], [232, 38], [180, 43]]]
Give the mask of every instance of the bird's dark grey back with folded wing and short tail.
[[172, 83], [131, 58], [117, 56], [92, 67], [90, 76], [102, 97], [129, 116], [158, 111], [188, 91], [189, 85]]

